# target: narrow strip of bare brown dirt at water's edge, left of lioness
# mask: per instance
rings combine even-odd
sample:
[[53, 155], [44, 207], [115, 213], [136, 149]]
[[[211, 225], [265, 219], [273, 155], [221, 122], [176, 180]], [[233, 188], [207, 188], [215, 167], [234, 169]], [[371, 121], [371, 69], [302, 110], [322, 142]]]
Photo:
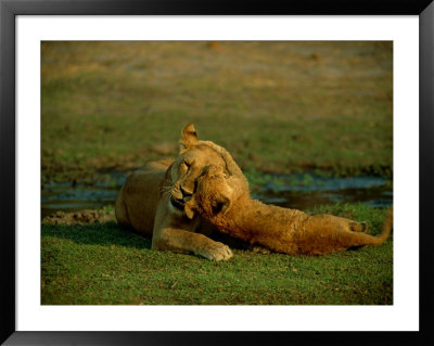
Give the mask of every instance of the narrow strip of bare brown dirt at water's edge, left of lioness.
[[85, 209], [74, 213], [56, 212], [42, 219], [44, 223], [72, 225], [116, 221], [114, 212]]

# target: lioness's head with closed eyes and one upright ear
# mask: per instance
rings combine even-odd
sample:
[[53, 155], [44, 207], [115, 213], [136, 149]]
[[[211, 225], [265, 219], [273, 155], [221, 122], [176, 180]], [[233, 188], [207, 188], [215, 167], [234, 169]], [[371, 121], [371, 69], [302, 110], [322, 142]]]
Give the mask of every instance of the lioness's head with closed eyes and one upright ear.
[[169, 171], [171, 180], [169, 208], [180, 216], [187, 215], [193, 218], [194, 212], [187, 203], [196, 191], [196, 180], [203, 174], [204, 167], [212, 165], [219, 167], [222, 175], [229, 176], [231, 163], [228, 163], [227, 158], [229, 153], [221, 146], [200, 141], [192, 124], [184, 127], [181, 136], [181, 150]]

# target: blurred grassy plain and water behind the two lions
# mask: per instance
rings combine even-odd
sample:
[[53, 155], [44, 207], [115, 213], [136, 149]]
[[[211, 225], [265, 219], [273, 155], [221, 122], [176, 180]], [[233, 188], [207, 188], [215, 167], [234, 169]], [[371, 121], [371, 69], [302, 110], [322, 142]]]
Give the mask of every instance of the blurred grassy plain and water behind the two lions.
[[42, 215], [113, 205], [180, 131], [225, 146], [254, 195], [296, 208], [392, 203], [393, 44], [44, 41]]

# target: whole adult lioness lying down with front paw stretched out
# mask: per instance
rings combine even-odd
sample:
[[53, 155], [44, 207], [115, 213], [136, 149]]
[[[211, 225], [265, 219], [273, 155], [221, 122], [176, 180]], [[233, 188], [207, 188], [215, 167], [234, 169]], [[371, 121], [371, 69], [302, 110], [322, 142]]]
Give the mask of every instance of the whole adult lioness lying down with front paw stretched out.
[[181, 150], [175, 161], [148, 163], [130, 174], [115, 205], [117, 222], [144, 234], [152, 234], [152, 248], [193, 253], [212, 260], [232, 257], [230, 248], [196, 233], [205, 226], [186, 207], [195, 192], [197, 177], [209, 165], [221, 167], [228, 179], [244, 176], [221, 146], [200, 141], [192, 124], [181, 132]]

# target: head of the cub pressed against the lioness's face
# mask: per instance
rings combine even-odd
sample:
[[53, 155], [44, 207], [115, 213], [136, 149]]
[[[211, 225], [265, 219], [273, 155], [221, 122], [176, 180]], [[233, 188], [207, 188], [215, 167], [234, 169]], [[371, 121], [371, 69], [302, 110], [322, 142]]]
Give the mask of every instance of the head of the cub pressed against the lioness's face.
[[215, 165], [203, 169], [197, 179], [197, 190], [186, 208], [199, 212], [205, 217], [213, 218], [218, 214], [225, 215], [232, 202], [238, 197], [240, 190], [229, 184], [225, 170]]

